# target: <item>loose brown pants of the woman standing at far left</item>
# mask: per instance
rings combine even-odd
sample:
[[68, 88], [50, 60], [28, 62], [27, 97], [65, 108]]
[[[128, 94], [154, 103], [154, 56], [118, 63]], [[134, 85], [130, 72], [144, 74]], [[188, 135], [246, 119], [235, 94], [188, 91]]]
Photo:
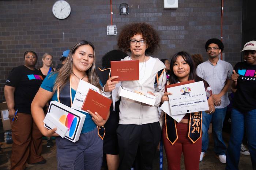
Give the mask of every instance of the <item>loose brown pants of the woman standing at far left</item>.
[[18, 119], [12, 120], [11, 170], [23, 170], [26, 163], [37, 163], [44, 158], [42, 153], [42, 134], [30, 114], [17, 113]]

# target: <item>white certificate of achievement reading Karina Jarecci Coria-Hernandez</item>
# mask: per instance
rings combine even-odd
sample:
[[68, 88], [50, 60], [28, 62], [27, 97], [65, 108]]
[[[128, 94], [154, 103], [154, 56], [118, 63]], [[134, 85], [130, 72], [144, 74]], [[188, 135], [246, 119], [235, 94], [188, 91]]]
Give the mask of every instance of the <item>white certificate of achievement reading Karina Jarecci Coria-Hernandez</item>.
[[167, 92], [172, 93], [168, 95], [172, 115], [209, 110], [203, 81], [170, 87]]

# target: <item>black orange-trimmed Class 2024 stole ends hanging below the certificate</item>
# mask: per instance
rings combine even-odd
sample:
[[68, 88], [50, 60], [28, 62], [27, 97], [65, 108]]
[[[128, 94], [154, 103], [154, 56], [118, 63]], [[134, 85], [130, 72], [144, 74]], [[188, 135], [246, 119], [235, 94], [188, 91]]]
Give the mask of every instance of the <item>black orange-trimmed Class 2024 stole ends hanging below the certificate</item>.
[[[172, 145], [178, 139], [176, 121], [165, 114], [166, 138]], [[189, 114], [188, 138], [195, 143], [202, 136], [202, 112], [193, 112]]]

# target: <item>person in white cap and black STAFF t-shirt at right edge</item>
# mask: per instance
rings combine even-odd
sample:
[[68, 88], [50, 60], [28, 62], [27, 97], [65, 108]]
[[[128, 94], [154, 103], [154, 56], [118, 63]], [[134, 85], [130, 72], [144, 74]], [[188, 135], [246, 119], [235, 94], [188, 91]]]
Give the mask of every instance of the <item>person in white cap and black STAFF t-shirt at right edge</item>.
[[[246, 130], [252, 168], [256, 169], [256, 41], [244, 45], [244, 62], [236, 64], [231, 79], [237, 91], [231, 112], [227, 170], [238, 170], [240, 145]], [[241, 52], [242, 52], [241, 51]]]

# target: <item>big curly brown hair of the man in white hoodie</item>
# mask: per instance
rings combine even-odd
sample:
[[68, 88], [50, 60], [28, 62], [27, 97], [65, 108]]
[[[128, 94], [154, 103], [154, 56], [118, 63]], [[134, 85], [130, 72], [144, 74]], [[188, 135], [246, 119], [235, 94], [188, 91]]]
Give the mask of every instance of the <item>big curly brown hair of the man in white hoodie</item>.
[[146, 40], [148, 48], [146, 49], [145, 54], [153, 54], [159, 47], [160, 38], [157, 31], [155, 31], [151, 25], [146, 23], [132, 23], [125, 25], [118, 36], [117, 46], [125, 52], [131, 52], [129, 40], [136, 34], [141, 34], [143, 39]]

